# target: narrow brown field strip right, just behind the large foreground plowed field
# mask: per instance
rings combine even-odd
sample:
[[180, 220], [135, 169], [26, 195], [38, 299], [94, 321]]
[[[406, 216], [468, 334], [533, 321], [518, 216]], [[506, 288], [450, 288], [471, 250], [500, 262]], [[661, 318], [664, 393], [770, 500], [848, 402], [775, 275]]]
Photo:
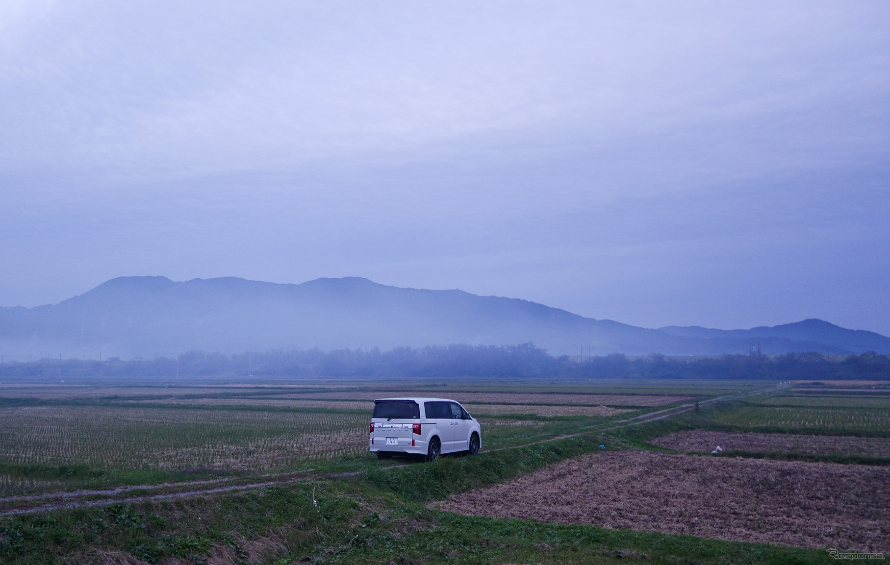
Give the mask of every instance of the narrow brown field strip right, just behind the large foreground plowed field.
[[679, 451], [711, 451], [720, 446], [724, 451], [735, 449], [817, 456], [841, 454], [890, 457], [890, 438], [690, 430], [670, 433], [651, 440], [650, 443]]

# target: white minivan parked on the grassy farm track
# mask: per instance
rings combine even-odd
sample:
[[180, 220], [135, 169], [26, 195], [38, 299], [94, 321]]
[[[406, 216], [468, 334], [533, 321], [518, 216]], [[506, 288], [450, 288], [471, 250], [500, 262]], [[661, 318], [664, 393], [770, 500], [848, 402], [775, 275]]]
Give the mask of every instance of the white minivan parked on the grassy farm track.
[[479, 421], [448, 399], [377, 399], [371, 416], [371, 453], [384, 459], [397, 453], [435, 461], [442, 453], [479, 453]]

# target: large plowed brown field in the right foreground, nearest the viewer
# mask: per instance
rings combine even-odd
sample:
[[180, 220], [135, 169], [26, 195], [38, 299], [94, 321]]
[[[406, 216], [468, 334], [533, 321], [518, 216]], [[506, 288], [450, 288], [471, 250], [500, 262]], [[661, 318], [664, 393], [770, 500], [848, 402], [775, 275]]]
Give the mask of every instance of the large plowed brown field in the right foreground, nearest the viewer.
[[605, 452], [452, 495], [448, 512], [890, 551], [890, 469]]

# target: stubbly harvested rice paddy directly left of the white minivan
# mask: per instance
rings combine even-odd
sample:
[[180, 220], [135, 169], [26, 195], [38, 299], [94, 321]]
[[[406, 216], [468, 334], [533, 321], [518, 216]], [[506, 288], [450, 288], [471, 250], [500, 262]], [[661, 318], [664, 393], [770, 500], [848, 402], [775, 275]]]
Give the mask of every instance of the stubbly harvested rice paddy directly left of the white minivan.
[[0, 410], [0, 462], [266, 470], [367, 450], [367, 416], [114, 407]]

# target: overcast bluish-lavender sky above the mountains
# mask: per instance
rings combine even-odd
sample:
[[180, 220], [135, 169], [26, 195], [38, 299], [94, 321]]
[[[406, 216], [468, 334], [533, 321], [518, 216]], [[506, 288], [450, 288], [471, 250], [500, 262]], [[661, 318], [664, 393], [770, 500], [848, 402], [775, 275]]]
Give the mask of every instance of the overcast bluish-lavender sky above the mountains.
[[360, 276], [890, 335], [890, 3], [0, 3], [0, 305]]

